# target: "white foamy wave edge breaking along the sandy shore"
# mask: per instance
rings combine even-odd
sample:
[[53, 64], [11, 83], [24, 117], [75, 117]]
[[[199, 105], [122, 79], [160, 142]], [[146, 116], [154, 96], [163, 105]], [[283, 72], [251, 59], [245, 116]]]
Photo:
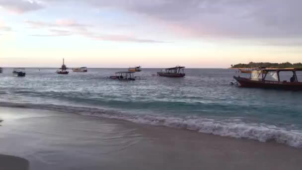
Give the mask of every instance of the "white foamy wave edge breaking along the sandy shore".
[[115, 110], [93, 107], [75, 107], [54, 104], [8, 103], [0, 102], [4, 107], [21, 107], [76, 113], [84, 116], [126, 120], [129, 122], [187, 129], [200, 133], [232, 138], [252, 139], [260, 142], [275, 141], [280, 144], [302, 148], [302, 130], [288, 130], [267, 124], [244, 123], [238, 119], [220, 120], [202, 117], [175, 117], [163, 115], [127, 114]]

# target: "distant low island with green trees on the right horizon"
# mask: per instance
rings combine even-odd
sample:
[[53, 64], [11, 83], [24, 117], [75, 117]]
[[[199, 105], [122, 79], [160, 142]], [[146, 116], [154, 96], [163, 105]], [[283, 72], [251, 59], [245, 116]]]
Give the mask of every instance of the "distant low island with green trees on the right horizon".
[[267, 68], [277, 68], [277, 69], [285, 69], [285, 68], [302, 68], [302, 63], [254, 63], [249, 62], [248, 64], [236, 64], [231, 65], [231, 68], [259, 68], [259, 67], [267, 67]]

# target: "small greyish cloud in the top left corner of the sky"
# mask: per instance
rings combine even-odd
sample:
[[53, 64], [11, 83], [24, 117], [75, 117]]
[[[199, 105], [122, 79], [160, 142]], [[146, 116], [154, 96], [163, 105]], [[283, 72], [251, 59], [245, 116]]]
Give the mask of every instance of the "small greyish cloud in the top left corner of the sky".
[[24, 13], [43, 8], [36, 0], [0, 0], [0, 7], [16, 13]]

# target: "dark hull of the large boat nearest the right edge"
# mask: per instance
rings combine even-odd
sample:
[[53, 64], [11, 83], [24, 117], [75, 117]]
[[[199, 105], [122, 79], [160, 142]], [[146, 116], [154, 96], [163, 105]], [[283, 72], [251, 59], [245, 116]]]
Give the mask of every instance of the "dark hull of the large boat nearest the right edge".
[[301, 82], [276, 82], [276, 81], [254, 81], [246, 78], [233, 77], [242, 87], [252, 88], [274, 88], [288, 90], [302, 90]]

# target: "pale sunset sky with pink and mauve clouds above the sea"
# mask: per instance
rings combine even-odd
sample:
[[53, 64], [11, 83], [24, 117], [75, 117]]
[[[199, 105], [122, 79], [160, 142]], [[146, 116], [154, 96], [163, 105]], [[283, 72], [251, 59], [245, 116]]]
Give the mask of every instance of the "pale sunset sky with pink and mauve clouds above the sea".
[[0, 66], [302, 62], [302, 0], [0, 0]]

